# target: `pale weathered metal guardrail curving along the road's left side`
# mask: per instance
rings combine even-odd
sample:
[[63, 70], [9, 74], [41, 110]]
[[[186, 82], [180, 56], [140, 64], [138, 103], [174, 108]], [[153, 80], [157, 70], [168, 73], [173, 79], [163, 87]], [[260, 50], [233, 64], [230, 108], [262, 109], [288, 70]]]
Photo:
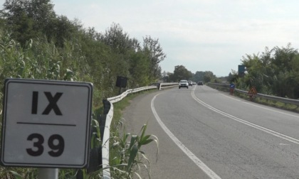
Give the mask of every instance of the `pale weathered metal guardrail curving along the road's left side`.
[[[158, 85], [153, 85], [153, 86], [148, 86], [148, 87], [139, 87], [135, 89], [127, 89], [125, 92], [122, 94], [116, 96], [116, 97], [110, 97], [107, 98], [108, 106], [110, 106], [109, 111], [107, 112], [107, 116], [105, 119], [105, 128], [103, 132], [103, 144], [102, 144], [102, 164], [103, 164], [103, 178], [104, 179], [110, 179], [110, 166], [109, 166], [109, 139], [110, 139], [110, 124], [113, 118], [113, 103], [119, 102], [122, 100], [124, 97], [127, 96], [127, 94], [135, 93], [135, 92], [140, 92], [144, 90], [149, 90], [149, 89], [164, 89], [167, 87], [174, 87], [179, 85], [177, 82], [173, 83], [159, 83]], [[105, 108], [105, 104], [104, 104]], [[105, 109], [104, 109], [105, 110]]]

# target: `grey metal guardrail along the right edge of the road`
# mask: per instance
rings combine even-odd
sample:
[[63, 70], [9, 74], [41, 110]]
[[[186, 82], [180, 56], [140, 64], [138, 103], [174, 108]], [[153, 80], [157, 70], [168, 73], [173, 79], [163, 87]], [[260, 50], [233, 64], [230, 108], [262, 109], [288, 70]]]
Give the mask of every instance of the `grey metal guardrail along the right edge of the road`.
[[[229, 85], [230, 84], [226, 84], [226, 83], [210, 83], [210, 85], [214, 85], [214, 86], [219, 86], [219, 87], [227, 87], [227, 89], [229, 90]], [[248, 94], [247, 91], [241, 90], [241, 89], [234, 89], [235, 92], [239, 92], [242, 94]], [[295, 104], [297, 106], [299, 106], [299, 100], [298, 99], [289, 99], [289, 98], [285, 98], [285, 97], [275, 97], [275, 96], [271, 96], [271, 95], [267, 95], [267, 94], [255, 94], [256, 97], [260, 97], [263, 99], [268, 99], [271, 101], [275, 101], [275, 102], [283, 102], [285, 104]]]

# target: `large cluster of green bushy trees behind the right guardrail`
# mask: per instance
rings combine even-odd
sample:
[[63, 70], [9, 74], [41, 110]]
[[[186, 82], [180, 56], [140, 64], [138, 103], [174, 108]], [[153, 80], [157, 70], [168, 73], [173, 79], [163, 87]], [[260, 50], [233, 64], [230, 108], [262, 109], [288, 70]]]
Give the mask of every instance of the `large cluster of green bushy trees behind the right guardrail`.
[[261, 54], [246, 54], [241, 62], [246, 67], [244, 77], [239, 77], [236, 71], [228, 77], [236, 87], [245, 90], [256, 87], [261, 94], [299, 99], [299, 53], [290, 43], [281, 48], [266, 47]]

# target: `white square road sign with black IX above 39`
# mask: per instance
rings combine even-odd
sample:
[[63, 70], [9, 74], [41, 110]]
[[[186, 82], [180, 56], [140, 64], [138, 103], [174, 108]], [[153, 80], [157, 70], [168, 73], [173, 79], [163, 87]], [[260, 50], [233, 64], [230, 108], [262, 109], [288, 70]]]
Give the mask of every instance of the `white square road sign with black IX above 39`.
[[1, 163], [84, 168], [88, 164], [93, 85], [7, 79]]

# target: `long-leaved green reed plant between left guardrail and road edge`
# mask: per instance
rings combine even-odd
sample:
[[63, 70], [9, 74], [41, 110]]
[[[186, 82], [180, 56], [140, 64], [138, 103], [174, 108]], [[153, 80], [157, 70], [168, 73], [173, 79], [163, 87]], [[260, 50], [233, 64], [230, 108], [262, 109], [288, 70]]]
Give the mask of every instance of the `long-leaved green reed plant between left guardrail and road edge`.
[[[123, 132], [122, 137], [114, 136], [112, 142], [111, 158], [113, 178], [142, 178], [140, 173], [147, 173], [150, 178], [150, 160], [142, 151], [142, 146], [155, 142], [157, 144], [157, 154], [159, 153], [159, 140], [157, 136], [146, 135], [147, 124], [142, 126], [139, 134]], [[142, 171], [145, 168], [145, 171]]]

